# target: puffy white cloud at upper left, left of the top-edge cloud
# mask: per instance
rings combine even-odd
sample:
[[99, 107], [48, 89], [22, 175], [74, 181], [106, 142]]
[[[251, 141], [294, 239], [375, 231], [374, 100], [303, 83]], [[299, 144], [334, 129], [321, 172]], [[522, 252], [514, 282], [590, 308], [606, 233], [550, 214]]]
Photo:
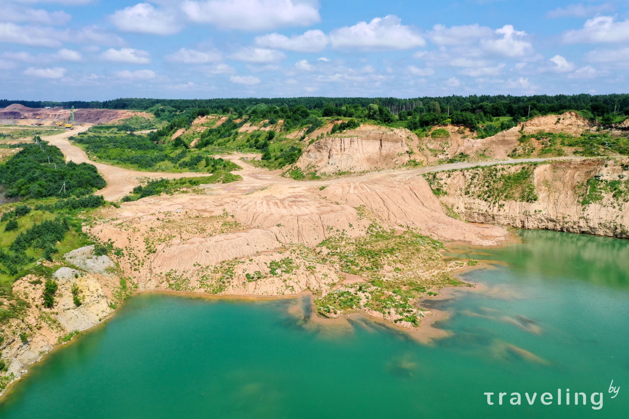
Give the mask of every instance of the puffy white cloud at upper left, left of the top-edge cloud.
[[175, 20], [175, 13], [155, 9], [148, 3], [116, 10], [109, 16], [109, 20], [116, 28], [125, 32], [172, 35], [181, 30], [181, 25]]

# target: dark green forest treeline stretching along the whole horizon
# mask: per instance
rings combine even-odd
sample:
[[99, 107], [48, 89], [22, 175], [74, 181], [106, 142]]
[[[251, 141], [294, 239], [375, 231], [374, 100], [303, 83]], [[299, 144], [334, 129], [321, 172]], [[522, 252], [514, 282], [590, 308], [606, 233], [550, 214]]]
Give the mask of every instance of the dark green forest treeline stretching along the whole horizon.
[[[247, 109], [259, 104], [272, 105], [277, 107], [304, 106], [309, 111], [324, 109], [330, 104], [336, 107], [360, 106], [368, 107], [377, 103], [386, 107], [392, 114], [401, 111], [417, 110], [427, 107], [431, 102], [437, 102], [443, 111], [477, 111], [485, 113], [496, 113], [494, 116], [521, 116], [528, 115], [529, 106], [540, 114], [556, 113], [564, 110], [587, 110], [596, 113], [625, 113], [629, 115], [629, 94], [608, 94], [608, 95], [470, 95], [470, 96], [444, 96], [444, 97], [417, 97], [415, 99], [398, 99], [395, 97], [277, 97], [277, 98], [246, 98], [246, 99], [141, 99], [141, 98], [121, 98], [113, 101], [70, 101], [70, 102], [47, 102], [47, 101], [8, 101], [0, 100], [0, 107], [10, 104], [21, 104], [27, 107], [54, 107], [63, 106], [75, 109], [130, 109], [146, 111], [156, 105], [168, 106], [182, 112], [187, 109], [209, 109], [213, 113], [226, 113], [226, 111], [247, 112]], [[499, 107], [504, 112], [487, 112], [489, 105], [500, 104]], [[604, 104], [606, 112], [592, 109], [592, 105], [600, 107]], [[418, 109], [421, 112], [421, 109]], [[598, 111], [598, 112], [597, 112]], [[501, 113], [498, 115], [498, 113]]]

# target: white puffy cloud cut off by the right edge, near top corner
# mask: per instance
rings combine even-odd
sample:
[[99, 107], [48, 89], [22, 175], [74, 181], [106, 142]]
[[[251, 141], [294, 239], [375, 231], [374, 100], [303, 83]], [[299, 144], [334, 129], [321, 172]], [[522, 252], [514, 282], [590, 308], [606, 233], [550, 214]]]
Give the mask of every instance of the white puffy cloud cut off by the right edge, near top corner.
[[615, 16], [596, 16], [587, 19], [583, 28], [566, 31], [565, 43], [598, 43], [629, 41], [629, 19], [617, 22]]

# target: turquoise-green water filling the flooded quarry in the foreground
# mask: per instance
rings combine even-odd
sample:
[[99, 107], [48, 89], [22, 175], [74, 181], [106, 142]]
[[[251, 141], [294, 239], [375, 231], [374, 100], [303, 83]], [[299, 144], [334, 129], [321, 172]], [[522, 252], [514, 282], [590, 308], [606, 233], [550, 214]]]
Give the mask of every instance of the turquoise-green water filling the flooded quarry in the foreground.
[[[521, 234], [521, 244], [456, 249], [499, 263], [467, 274], [486, 292], [431, 302], [452, 313], [439, 327], [454, 332], [432, 346], [369, 321], [303, 327], [289, 314], [295, 300], [143, 294], [31, 366], [0, 418], [626, 417], [629, 241]], [[557, 388], [571, 390], [569, 406]], [[540, 403], [547, 391], [552, 405]], [[513, 392], [522, 405], [509, 404]], [[537, 392], [532, 406], [525, 392]]]

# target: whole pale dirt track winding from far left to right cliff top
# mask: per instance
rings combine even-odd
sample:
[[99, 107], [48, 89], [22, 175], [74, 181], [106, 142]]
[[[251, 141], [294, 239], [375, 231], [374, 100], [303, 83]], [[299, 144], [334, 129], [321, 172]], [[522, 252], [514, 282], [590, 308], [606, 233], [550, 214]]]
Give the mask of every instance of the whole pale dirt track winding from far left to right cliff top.
[[[98, 169], [98, 171], [103, 175], [103, 178], [107, 181], [107, 187], [96, 192], [98, 195], [103, 195], [104, 199], [109, 201], [116, 201], [121, 199], [123, 196], [127, 195], [131, 190], [140, 185], [140, 180], [142, 178], [168, 178], [168, 179], [176, 179], [182, 177], [201, 177], [207, 176], [208, 173], [165, 173], [165, 172], [150, 172], [150, 171], [137, 171], [137, 170], [128, 170], [125, 168], [120, 168], [116, 166], [105, 165], [103, 163], [96, 163], [94, 161], [89, 160], [85, 151], [81, 150], [81, 148], [71, 144], [69, 141], [69, 137], [81, 133], [83, 131], [87, 131], [90, 128], [90, 124], [86, 124], [79, 129], [75, 129], [74, 131], [65, 131], [60, 134], [55, 134], [52, 136], [45, 136], [43, 139], [49, 141], [51, 144], [60, 148], [62, 153], [65, 155], [66, 161], [74, 161], [75, 163], [90, 163]], [[240, 190], [253, 190], [260, 187], [265, 187], [270, 184], [281, 184], [286, 187], [303, 187], [304, 183], [308, 183], [310, 185], [330, 185], [331, 183], [347, 183], [347, 182], [359, 182], [359, 181], [369, 181], [369, 180], [384, 180], [387, 178], [399, 177], [400, 175], [405, 175], [411, 177], [413, 175], [421, 175], [422, 173], [431, 173], [435, 171], [444, 171], [444, 170], [456, 170], [456, 169], [464, 169], [476, 166], [493, 166], [493, 165], [503, 165], [503, 164], [511, 164], [511, 163], [530, 163], [530, 162], [539, 162], [539, 161], [550, 161], [550, 160], [582, 160], [581, 157], [557, 157], [557, 158], [526, 158], [526, 159], [509, 159], [509, 160], [499, 160], [499, 161], [484, 161], [481, 163], [452, 163], [447, 165], [439, 165], [439, 166], [426, 166], [416, 169], [401, 169], [401, 170], [386, 170], [386, 171], [377, 171], [374, 173], [366, 173], [361, 175], [355, 175], [350, 177], [343, 177], [331, 180], [316, 180], [311, 182], [304, 181], [296, 181], [290, 178], [284, 178], [279, 176], [280, 171], [268, 171], [261, 168], [256, 168], [254, 166], [248, 165], [247, 163], [240, 160], [242, 156], [253, 156], [253, 155], [243, 155], [243, 154], [235, 154], [235, 155], [225, 155], [223, 158], [226, 160], [234, 161], [239, 166], [243, 168], [243, 170], [235, 171], [238, 175], [243, 177], [243, 180], [240, 182], [230, 183], [228, 185], [223, 185], [221, 188], [225, 190], [233, 190], [237, 188]]]

